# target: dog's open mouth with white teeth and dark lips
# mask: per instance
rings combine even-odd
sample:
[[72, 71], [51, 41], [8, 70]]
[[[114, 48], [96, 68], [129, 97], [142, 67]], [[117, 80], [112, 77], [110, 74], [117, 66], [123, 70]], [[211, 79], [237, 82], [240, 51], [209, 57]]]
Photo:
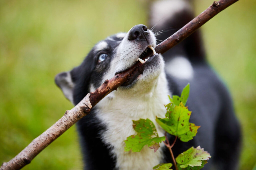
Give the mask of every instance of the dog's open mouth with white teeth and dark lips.
[[[153, 52], [153, 56], [152, 56], [152, 52]], [[135, 69], [128, 77], [128, 80], [126, 80], [121, 86], [128, 86], [128, 85], [132, 84], [134, 82], [134, 80], [136, 80], [139, 75], [143, 74], [145, 66], [150, 64], [150, 62], [156, 57], [155, 54], [156, 54], [155, 49], [153, 48], [153, 46], [149, 45], [143, 51], [143, 53], [138, 57], [137, 62], [134, 64]], [[151, 56], [151, 57], [148, 57], [148, 56]], [[129, 70], [129, 69], [130, 68], [128, 68], [127, 70]], [[126, 71], [126, 70], [124, 70], [124, 71]], [[116, 72], [115, 75], [122, 73], [124, 71]]]

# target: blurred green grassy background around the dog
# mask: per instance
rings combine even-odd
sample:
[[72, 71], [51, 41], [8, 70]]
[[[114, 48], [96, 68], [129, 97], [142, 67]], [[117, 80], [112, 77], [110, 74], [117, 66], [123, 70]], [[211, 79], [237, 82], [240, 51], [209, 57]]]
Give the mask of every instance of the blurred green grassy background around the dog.
[[[195, 14], [212, 0], [196, 0]], [[72, 104], [54, 76], [79, 65], [99, 40], [147, 25], [147, 1], [0, 1], [0, 163]], [[240, 0], [202, 27], [211, 65], [229, 87], [243, 132], [240, 169], [256, 162], [256, 1]], [[81, 169], [76, 127], [24, 169]], [[99, 160], [100, 162], [100, 160]]]

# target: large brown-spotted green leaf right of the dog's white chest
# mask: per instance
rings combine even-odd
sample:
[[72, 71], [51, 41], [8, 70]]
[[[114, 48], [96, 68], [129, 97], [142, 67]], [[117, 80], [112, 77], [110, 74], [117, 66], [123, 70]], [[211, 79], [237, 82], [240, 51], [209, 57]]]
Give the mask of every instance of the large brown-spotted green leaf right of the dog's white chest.
[[[172, 110], [172, 108], [169, 107], [168, 109]], [[171, 112], [169, 110], [167, 110], [168, 113], [166, 113], [166, 115], [168, 115], [167, 118], [161, 119], [156, 117], [156, 122], [166, 132], [177, 136], [183, 142], [193, 139], [200, 126], [196, 126], [194, 123], [189, 122], [191, 111], [189, 111], [183, 103], [180, 103], [179, 106], [175, 106]]]

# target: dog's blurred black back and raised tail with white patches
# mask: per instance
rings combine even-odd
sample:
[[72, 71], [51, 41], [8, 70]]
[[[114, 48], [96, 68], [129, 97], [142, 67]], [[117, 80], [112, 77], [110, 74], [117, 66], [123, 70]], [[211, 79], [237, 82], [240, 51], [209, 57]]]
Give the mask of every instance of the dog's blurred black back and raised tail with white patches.
[[[186, 0], [163, 0], [152, 4], [150, 25], [158, 40], [165, 40], [194, 18], [193, 8]], [[176, 142], [174, 155], [191, 146], [201, 146], [212, 158], [205, 169], [236, 169], [239, 157], [240, 127], [234, 115], [229, 92], [206, 62], [200, 30], [191, 34], [165, 54], [165, 71], [169, 88], [180, 95], [190, 83], [187, 101], [192, 111], [191, 122], [201, 127], [193, 140]], [[173, 140], [172, 137], [170, 137]], [[166, 150], [167, 162], [172, 162]]]

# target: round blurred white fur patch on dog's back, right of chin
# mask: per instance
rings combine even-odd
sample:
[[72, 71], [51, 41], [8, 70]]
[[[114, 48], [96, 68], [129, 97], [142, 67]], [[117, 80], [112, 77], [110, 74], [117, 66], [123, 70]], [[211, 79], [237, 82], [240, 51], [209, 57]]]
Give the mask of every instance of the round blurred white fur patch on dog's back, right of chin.
[[182, 56], [177, 56], [171, 61], [166, 62], [165, 70], [179, 79], [192, 79], [194, 74], [191, 63]]

